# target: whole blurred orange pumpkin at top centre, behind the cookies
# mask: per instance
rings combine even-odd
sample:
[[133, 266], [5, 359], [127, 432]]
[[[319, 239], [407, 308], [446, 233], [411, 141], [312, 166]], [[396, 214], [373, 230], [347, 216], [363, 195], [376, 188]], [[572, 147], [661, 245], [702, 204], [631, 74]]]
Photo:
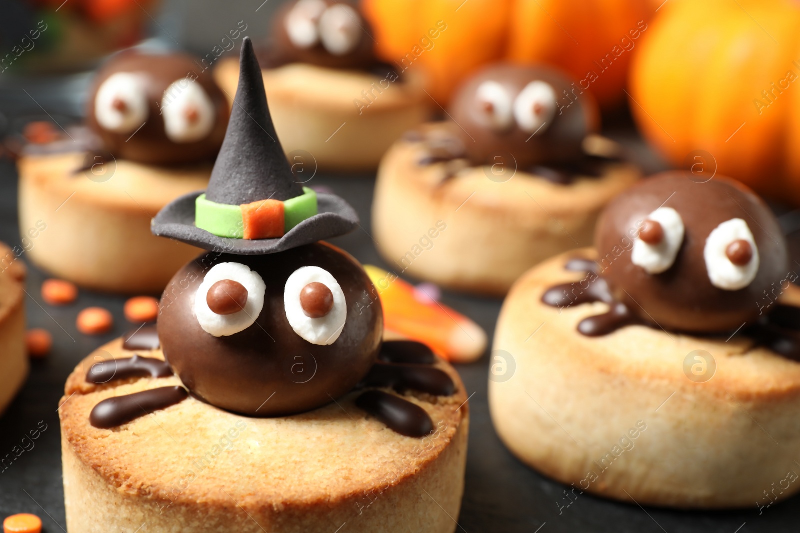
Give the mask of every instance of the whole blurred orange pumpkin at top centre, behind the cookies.
[[[419, 62], [442, 104], [479, 67], [509, 59], [558, 66], [608, 108], [624, 97], [632, 50], [657, 1], [363, 0], [362, 8], [378, 55], [400, 69]], [[446, 30], [431, 39], [439, 21]]]

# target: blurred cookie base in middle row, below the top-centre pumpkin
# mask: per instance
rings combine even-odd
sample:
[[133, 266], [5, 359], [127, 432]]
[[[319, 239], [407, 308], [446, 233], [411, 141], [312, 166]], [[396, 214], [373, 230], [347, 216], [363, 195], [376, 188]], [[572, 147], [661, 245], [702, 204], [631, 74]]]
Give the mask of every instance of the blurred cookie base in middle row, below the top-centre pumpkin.
[[[421, 143], [398, 141], [381, 162], [372, 205], [378, 250], [396, 272], [494, 295], [539, 261], [592, 242], [603, 206], [641, 177], [621, 163], [571, 185], [522, 171], [501, 183], [490, 167], [447, 178], [444, 163], [418, 165], [425, 155]], [[426, 237], [431, 229], [441, 231]]]

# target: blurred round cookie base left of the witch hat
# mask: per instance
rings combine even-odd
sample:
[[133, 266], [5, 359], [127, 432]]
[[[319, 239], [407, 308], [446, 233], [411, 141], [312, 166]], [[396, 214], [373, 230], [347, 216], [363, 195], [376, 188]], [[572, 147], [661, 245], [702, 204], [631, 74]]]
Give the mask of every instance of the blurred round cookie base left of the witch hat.
[[176, 197], [205, 189], [210, 164], [158, 167], [118, 160], [106, 165], [113, 172], [109, 179], [92, 181], [73, 174], [85, 157], [56, 153], [19, 160], [20, 228], [41, 230], [31, 239], [31, 261], [88, 288], [162, 291], [202, 250], [154, 237], [150, 221]]

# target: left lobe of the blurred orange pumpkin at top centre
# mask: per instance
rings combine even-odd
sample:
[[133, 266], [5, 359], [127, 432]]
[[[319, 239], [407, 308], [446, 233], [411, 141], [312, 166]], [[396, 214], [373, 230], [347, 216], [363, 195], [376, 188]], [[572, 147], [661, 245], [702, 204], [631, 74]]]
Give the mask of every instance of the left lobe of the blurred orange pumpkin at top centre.
[[398, 71], [422, 67], [445, 103], [464, 78], [502, 57], [512, 0], [363, 0], [375, 51]]

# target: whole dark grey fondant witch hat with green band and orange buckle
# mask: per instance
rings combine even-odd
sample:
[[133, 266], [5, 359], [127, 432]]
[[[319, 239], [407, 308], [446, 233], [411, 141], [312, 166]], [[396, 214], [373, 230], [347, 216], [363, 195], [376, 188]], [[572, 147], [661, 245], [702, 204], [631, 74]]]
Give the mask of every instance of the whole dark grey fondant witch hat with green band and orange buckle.
[[349, 233], [358, 215], [346, 201], [294, 181], [250, 38], [242, 42], [239, 61], [239, 86], [208, 189], [166, 205], [151, 231], [244, 255], [281, 252]]

